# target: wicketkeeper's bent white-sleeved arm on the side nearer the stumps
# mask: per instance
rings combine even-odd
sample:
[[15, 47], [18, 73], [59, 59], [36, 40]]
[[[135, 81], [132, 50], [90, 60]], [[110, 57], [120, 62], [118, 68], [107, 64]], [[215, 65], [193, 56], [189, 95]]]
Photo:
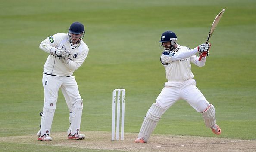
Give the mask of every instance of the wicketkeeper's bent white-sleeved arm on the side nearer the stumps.
[[77, 58], [74, 61], [71, 61], [70, 58], [63, 59], [62, 62], [72, 71], [77, 70], [86, 59], [89, 52], [89, 48], [86, 47], [80, 54], [78, 54]]

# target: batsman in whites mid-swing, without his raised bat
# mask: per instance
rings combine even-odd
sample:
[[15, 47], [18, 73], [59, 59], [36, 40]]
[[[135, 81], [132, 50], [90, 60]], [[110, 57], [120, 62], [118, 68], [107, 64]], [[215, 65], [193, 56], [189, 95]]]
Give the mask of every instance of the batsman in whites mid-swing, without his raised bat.
[[[206, 127], [211, 128], [214, 134], [221, 134], [221, 129], [216, 124], [215, 108], [197, 88], [190, 64], [203, 67], [211, 44], [204, 43], [189, 49], [178, 45], [176, 40], [177, 36], [172, 31], [165, 31], [161, 35], [159, 42], [162, 43], [163, 52], [160, 61], [165, 67], [168, 82], [156, 98], [156, 103], [147, 111], [135, 143], [147, 142], [162, 114], [179, 99], [186, 100], [197, 112], [202, 113]], [[203, 56], [201, 61], [198, 61], [197, 53]]]

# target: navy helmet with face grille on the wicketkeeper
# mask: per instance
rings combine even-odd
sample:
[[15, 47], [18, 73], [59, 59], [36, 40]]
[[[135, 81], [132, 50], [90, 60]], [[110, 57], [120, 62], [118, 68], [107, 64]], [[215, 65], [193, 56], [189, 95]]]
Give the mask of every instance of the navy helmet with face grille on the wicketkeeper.
[[71, 35], [72, 34], [81, 34], [79, 41], [81, 41], [84, 38], [85, 30], [84, 30], [84, 25], [81, 24], [80, 22], [74, 22], [70, 25], [69, 27], [69, 39], [71, 40]]

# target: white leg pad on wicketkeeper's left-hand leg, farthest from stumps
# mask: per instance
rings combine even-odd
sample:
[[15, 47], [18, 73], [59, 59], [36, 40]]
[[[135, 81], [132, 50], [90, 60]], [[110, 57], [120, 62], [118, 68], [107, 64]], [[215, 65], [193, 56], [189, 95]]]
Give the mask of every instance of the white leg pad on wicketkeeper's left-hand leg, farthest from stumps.
[[[41, 118], [40, 136], [43, 136], [44, 134], [50, 135], [55, 109], [56, 101], [47, 101], [44, 103], [43, 114]], [[39, 134], [39, 131], [37, 134]]]

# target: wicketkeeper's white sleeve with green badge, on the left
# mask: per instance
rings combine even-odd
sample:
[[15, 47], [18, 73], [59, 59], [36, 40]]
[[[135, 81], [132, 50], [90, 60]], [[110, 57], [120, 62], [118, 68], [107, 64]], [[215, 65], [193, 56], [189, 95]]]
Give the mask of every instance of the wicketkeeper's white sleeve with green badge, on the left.
[[58, 47], [58, 44], [61, 41], [59, 37], [60, 37], [60, 33], [47, 37], [45, 40], [41, 42], [41, 44], [39, 45], [39, 48], [47, 53], [50, 53], [50, 50], [53, 49], [53, 47], [55, 48]]

